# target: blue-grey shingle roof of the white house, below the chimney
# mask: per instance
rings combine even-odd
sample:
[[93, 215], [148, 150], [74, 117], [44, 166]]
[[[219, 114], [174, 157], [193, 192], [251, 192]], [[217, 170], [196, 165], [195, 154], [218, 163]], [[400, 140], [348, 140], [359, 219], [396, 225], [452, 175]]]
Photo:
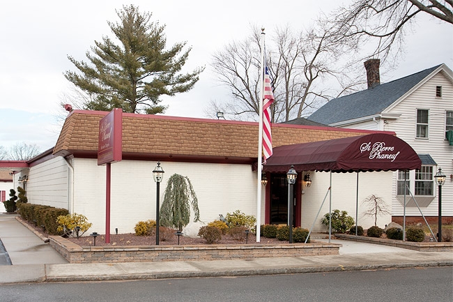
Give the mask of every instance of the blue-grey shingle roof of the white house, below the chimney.
[[419, 73], [392, 82], [379, 84], [372, 89], [334, 98], [307, 119], [330, 125], [340, 121], [380, 114], [439, 66], [422, 70]]

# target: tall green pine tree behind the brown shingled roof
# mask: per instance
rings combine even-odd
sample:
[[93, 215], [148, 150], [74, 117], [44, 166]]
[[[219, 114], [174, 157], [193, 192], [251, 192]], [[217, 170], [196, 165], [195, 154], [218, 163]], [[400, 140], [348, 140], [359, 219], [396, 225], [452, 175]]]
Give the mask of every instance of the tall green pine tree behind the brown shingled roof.
[[89, 96], [87, 110], [163, 113], [160, 96], [189, 91], [204, 68], [180, 74], [191, 49], [183, 50], [184, 42], [165, 50], [165, 27], [151, 22], [151, 13], [132, 5], [116, 13], [121, 22], [107, 23], [121, 44], [106, 36], [95, 41], [93, 53], [86, 52], [91, 64], [68, 56], [79, 73], [66, 71], [65, 77]]

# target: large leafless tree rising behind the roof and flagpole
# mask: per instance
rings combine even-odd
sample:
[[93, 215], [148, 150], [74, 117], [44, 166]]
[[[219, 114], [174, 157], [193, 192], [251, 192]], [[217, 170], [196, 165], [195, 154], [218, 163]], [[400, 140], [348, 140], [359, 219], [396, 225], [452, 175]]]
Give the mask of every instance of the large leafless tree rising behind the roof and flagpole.
[[[320, 21], [313, 29], [297, 35], [285, 27], [276, 29], [273, 38], [266, 37], [266, 61], [275, 98], [271, 106], [272, 122], [301, 117], [336, 96], [337, 90], [351, 91], [355, 86], [348, 82], [355, 79], [347, 75], [352, 69], [338, 63], [340, 56], [348, 53], [345, 50], [355, 45], [332, 35], [328, 25]], [[223, 107], [238, 119], [256, 120], [259, 116], [260, 35], [254, 27], [252, 36], [242, 42], [229, 43], [213, 55], [211, 66], [217, 79], [229, 88], [232, 96]], [[323, 89], [323, 85], [329, 89]], [[216, 107], [220, 106], [211, 106], [211, 110]]]

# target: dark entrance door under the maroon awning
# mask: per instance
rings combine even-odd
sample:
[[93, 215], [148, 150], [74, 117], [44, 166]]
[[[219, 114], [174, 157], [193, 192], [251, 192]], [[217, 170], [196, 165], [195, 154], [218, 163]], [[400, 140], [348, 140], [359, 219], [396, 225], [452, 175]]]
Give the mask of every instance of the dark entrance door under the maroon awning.
[[[296, 223], [296, 185], [293, 188], [293, 226]], [[288, 224], [288, 181], [286, 174], [270, 175], [270, 224], [287, 225]]]

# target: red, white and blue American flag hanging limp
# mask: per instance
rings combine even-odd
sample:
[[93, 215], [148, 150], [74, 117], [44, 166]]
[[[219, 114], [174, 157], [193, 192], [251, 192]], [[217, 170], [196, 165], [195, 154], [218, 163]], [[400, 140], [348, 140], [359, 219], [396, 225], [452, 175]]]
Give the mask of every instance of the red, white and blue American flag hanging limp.
[[264, 68], [263, 84], [263, 159], [264, 163], [272, 156], [272, 135], [270, 134], [270, 105], [274, 101], [272, 85], [270, 84], [268, 67]]

